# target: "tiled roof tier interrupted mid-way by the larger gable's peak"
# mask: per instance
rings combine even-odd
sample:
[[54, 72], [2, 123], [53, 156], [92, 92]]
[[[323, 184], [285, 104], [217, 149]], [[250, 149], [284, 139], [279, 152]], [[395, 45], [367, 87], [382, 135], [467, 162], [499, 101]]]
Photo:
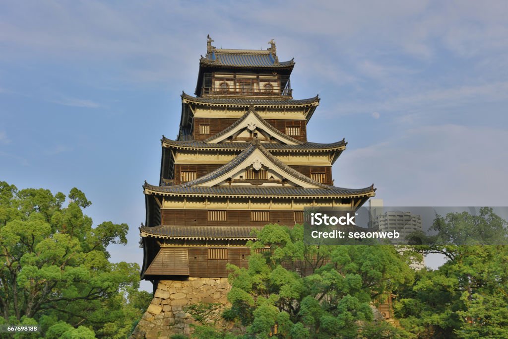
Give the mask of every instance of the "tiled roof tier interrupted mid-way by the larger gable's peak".
[[[175, 146], [177, 148], [199, 148], [199, 149], [231, 149], [231, 150], [243, 150], [247, 148], [250, 143], [248, 142], [221, 142], [221, 143], [206, 143], [200, 140], [189, 140], [189, 141], [175, 141], [168, 139], [163, 136], [162, 142]], [[329, 150], [337, 149], [347, 145], [344, 139], [333, 142], [333, 143], [317, 143], [317, 142], [304, 142], [298, 145], [287, 145], [279, 143], [262, 143], [263, 147], [267, 150]]]

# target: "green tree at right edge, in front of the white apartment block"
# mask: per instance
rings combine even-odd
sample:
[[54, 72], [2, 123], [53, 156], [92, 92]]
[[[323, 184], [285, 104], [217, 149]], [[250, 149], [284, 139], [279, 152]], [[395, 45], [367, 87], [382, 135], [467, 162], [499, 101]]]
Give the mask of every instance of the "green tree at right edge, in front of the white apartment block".
[[488, 207], [479, 215], [437, 216], [438, 244], [414, 251], [448, 261], [400, 289], [395, 310], [401, 324], [422, 338], [508, 337], [508, 246], [466, 245], [506, 243], [506, 225]]

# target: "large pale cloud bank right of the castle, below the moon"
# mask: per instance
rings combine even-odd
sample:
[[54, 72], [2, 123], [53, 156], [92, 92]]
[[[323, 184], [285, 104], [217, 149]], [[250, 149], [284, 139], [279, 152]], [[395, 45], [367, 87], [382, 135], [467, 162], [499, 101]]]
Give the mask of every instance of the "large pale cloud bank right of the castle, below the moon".
[[460, 125], [400, 131], [389, 141], [348, 149], [335, 184], [374, 182], [387, 206], [506, 206], [508, 130]]

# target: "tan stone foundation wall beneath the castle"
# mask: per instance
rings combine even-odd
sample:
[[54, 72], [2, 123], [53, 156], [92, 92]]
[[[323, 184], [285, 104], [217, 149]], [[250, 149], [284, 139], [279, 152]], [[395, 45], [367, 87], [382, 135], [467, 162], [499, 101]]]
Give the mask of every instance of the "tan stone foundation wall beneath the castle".
[[226, 296], [230, 289], [227, 278], [162, 280], [131, 338], [168, 338], [176, 333], [188, 335], [192, 332], [189, 324], [194, 321], [183, 307], [199, 302], [229, 306]]

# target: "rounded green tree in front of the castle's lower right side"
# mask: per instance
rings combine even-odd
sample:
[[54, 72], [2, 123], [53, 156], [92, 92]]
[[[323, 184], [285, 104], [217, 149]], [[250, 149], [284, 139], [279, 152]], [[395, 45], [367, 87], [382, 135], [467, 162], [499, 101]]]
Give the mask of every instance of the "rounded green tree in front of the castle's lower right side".
[[[225, 316], [248, 335], [361, 337], [375, 297], [412, 281], [393, 246], [308, 246], [298, 225], [267, 225], [257, 238], [248, 243], [248, 268], [229, 265], [232, 307]], [[405, 337], [399, 334], [391, 337]]]

